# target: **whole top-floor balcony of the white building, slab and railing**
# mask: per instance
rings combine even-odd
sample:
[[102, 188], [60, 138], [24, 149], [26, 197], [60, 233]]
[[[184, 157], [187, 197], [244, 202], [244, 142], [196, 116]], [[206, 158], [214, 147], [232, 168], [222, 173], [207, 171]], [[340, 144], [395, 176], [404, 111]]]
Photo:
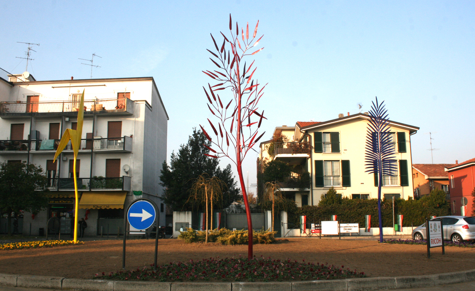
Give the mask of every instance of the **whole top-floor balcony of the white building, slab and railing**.
[[[79, 111], [78, 101], [0, 102], [1, 118], [24, 116], [74, 116]], [[84, 100], [84, 115], [132, 115], [134, 101], [128, 98]]]

